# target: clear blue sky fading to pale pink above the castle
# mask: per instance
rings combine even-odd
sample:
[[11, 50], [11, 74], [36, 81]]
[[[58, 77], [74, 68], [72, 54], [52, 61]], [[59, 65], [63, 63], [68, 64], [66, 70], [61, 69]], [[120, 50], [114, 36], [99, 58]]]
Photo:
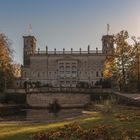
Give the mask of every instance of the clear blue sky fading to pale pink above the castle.
[[127, 30], [140, 37], [140, 0], [0, 0], [0, 32], [12, 42], [14, 61], [23, 63], [23, 38], [28, 27], [45, 50], [94, 50], [101, 38]]

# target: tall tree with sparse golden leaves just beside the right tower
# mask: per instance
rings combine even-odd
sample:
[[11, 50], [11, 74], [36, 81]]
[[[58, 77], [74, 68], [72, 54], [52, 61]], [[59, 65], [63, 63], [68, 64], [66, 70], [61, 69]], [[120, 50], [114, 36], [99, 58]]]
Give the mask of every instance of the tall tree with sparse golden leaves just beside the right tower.
[[113, 75], [118, 80], [120, 88], [122, 89], [124, 89], [126, 84], [128, 83], [128, 75], [132, 63], [132, 47], [127, 42], [128, 38], [128, 32], [124, 30], [118, 33], [114, 38], [116, 49], [114, 59], [115, 69]]

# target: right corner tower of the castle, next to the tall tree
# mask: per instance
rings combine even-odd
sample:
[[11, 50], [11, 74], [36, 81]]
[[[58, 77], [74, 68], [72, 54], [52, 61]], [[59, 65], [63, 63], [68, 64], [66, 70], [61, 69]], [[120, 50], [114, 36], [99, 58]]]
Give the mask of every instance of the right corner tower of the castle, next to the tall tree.
[[114, 50], [114, 36], [104, 35], [102, 37], [102, 51], [106, 55], [111, 55]]

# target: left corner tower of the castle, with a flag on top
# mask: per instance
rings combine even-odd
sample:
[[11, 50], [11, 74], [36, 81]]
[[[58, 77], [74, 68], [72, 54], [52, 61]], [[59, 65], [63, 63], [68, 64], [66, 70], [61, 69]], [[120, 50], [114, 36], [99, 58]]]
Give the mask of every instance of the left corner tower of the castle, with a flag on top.
[[36, 51], [36, 38], [34, 36], [23, 36], [23, 65], [30, 64], [30, 54]]

